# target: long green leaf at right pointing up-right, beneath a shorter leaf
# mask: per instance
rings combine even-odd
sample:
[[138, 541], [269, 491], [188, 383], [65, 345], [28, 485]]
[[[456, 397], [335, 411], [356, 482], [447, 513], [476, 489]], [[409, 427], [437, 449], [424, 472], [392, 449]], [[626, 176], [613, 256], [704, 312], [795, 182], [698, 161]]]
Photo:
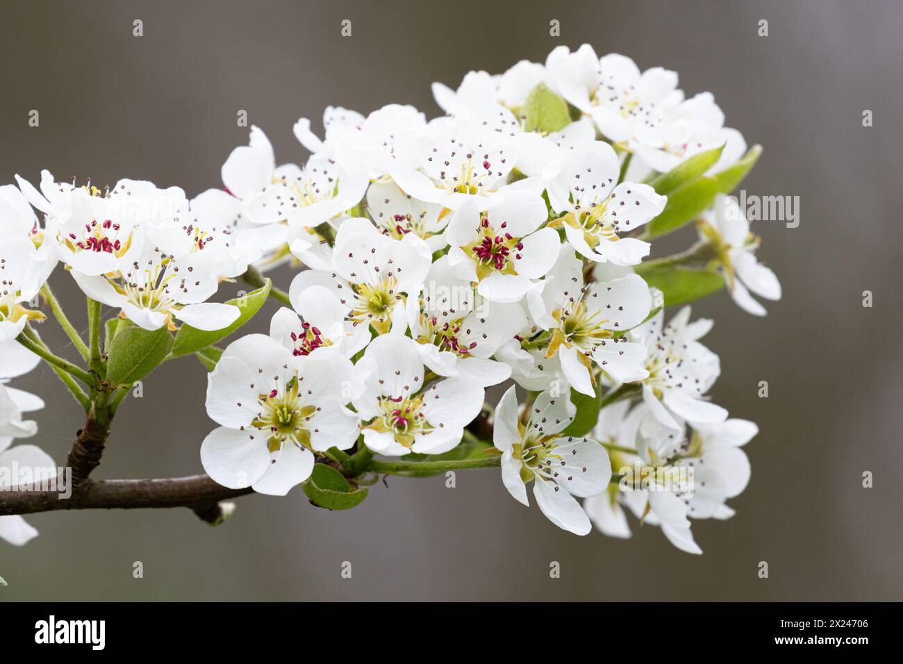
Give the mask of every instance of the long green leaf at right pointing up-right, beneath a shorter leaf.
[[712, 207], [716, 194], [731, 192], [740, 184], [759, 160], [759, 154], [762, 154], [761, 145], [753, 145], [749, 152], [730, 168], [712, 176], [703, 175], [668, 194], [665, 210], [649, 222], [644, 238], [665, 235], [699, 217], [704, 210]]

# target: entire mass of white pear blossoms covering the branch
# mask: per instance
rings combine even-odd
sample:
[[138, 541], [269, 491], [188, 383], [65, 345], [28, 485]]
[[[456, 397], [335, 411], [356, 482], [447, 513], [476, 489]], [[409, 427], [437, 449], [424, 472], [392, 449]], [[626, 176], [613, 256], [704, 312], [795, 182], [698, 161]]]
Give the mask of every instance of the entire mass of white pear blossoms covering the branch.
[[[43, 172], [39, 191], [19, 179], [0, 198], [0, 341], [39, 316], [26, 304], [58, 261], [145, 330], [207, 331], [239, 315], [208, 301], [219, 283], [288, 263], [292, 309], [268, 335], [230, 343], [209, 374], [219, 428], [200, 457], [216, 482], [284, 495], [330, 450], [449, 453], [491, 411], [486, 388], [513, 380], [526, 401], [504, 393], [489, 451], [517, 500], [534, 482], [556, 525], [615, 537], [629, 535], [626, 505], [699, 552], [688, 518], [731, 515], [756, 427], [707, 397], [720, 365], [698, 339], [711, 322], [684, 308], [666, 324], [639, 267], [667, 205], [656, 176], [715, 149], [696, 176], [721, 173], [746, 152], [742, 136], [710, 93], [685, 98], [674, 71], [589, 45], [433, 94], [446, 115], [429, 121], [410, 106], [330, 107], [316, 136], [300, 119], [302, 166], [277, 165], [253, 127], [222, 166], [224, 188], [192, 200], [151, 182], [100, 191]], [[749, 291], [777, 299], [777, 279], [739, 210], [716, 202], [697, 219], [712, 273], [764, 313]], [[3, 357], [0, 379], [15, 370]], [[33, 433], [19, 418], [33, 403], [6, 391], [0, 434]], [[592, 403], [598, 424], [572, 435]], [[694, 488], [648, 471], [618, 482], [639, 465], [694, 468]]]

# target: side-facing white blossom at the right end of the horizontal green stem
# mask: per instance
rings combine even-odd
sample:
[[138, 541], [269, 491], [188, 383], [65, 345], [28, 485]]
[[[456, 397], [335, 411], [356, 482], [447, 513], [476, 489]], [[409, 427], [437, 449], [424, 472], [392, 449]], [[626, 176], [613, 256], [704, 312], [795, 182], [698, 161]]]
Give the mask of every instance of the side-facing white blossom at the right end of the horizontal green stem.
[[563, 435], [573, 421], [566, 397], [543, 392], [529, 407], [526, 425], [519, 418], [515, 388], [496, 407], [492, 442], [502, 453], [502, 482], [515, 500], [529, 506], [526, 484], [534, 482], [539, 509], [559, 528], [577, 535], [591, 530], [577, 498], [604, 491], [611, 479], [605, 448], [591, 438]]

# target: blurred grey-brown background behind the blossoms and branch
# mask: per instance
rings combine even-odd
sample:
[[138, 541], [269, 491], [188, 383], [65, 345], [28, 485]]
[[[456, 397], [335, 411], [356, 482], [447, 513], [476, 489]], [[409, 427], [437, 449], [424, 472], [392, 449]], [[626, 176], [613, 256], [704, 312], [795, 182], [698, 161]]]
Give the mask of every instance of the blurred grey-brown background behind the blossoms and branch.
[[[219, 167], [247, 128], [280, 162], [303, 161], [298, 117], [320, 126], [325, 106], [367, 113], [389, 102], [437, 115], [430, 83], [456, 87], [471, 69], [544, 61], [558, 44], [591, 42], [640, 67], [677, 70], [689, 94], [712, 90], [749, 144], [765, 153], [749, 193], [801, 198], [799, 228], [754, 226], [759, 256], [784, 300], [766, 319], [728, 295], [696, 304], [716, 324], [712, 391], [733, 416], [759, 423], [746, 448], [752, 481], [727, 522], [697, 521], [703, 556], [671, 547], [656, 528], [632, 540], [578, 538], [511, 499], [497, 471], [389, 478], [358, 509], [287, 498], [238, 500], [209, 528], [189, 510], [56, 512], [28, 517], [29, 545], [0, 544], [3, 600], [899, 600], [900, 210], [903, 7], [894, 0], [815, 2], [5, 2], [0, 182], [42, 168], [220, 186]], [[132, 22], [144, 21], [144, 36]], [[353, 36], [340, 37], [350, 19]], [[561, 37], [549, 36], [549, 21]], [[757, 35], [767, 19], [768, 37]], [[41, 126], [27, 125], [38, 109]], [[865, 108], [874, 126], [861, 126]], [[666, 248], [687, 246], [684, 229]], [[655, 250], [655, 249], [654, 249]], [[659, 246], [659, 251], [662, 247]], [[287, 288], [291, 273], [275, 275]], [[70, 277], [51, 285], [79, 324]], [[232, 295], [240, 285], [227, 285]], [[874, 307], [861, 306], [862, 291]], [[275, 304], [255, 321], [264, 330]], [[44, 337], [64, 352], [52, 321]], [[768, 380], [770, 397], [757, 397]], [[126, 401], [101, 477], [200, 472], [214, 426], [206, 371], [192, 358], [145, 380]], [[79, 408], [47, 369], [16, 385], [42, 394], [35, 439], [61, 463]], [[874, 472], [874, 488], [861, 473]], [[770, 577], [759, 579], [759, 561]], [[133, 563], [144, 563], [134, 579]], [[350, 561], [353, 577], [342, 579]], [[549, 564], [562, 566], [549, 578]]]

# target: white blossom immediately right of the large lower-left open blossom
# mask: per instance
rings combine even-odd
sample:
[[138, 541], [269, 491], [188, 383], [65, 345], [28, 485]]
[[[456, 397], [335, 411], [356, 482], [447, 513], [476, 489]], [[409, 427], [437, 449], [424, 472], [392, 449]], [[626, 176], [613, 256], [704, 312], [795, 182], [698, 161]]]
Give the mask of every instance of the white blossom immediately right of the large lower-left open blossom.
[[401, 334], [384, 334], [370, 341], [354, 365], [352, 404], [364, 443], [379, 454], [448, 452], [483, 407], [483, 388], [472, 380], [425, 385], [417, 346]]

